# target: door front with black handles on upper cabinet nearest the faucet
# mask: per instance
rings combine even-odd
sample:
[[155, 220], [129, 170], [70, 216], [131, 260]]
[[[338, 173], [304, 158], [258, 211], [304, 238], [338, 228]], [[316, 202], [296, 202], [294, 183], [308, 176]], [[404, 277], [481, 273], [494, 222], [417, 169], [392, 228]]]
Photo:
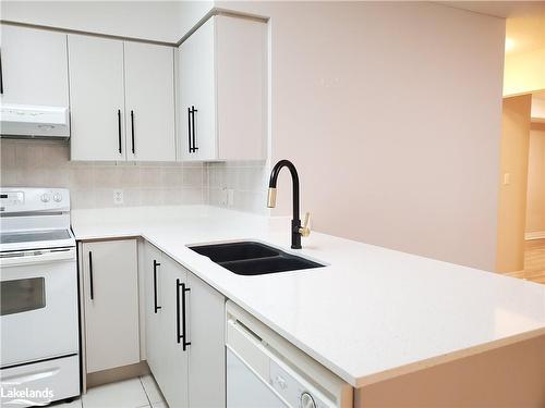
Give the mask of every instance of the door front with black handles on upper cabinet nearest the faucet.
[[[179, 48], [179, 157], [185, 161], [217, 159], [215, 18], [209, 18]], [[191, 147], [197, 150], [192, 151]]]

